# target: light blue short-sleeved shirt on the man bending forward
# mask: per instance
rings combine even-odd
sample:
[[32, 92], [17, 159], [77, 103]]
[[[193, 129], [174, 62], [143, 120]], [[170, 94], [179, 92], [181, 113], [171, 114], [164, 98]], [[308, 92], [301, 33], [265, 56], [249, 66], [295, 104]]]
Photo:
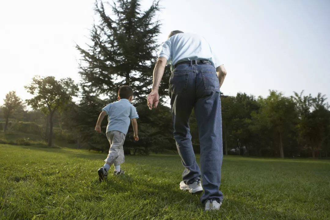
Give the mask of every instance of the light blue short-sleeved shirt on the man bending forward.
[[188, 60], [208, 60], [215, 67], [221, 65], [206, 39], [190, 33], [180, 33], [170, 37], [160, 49], [159, 57], [165, 57], [167, 64], [172, 66]]

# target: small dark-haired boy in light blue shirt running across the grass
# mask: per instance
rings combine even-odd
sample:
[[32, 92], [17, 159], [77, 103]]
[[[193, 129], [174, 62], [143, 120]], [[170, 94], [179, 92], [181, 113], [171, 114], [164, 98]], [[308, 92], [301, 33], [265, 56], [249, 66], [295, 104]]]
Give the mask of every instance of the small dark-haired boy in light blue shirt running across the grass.
[[109, 154], [104, 160], [106, 163], [98, 170], [100, 182], [107, 178], [112, 164], [115, 165], [114, 175], [124, 174], [124, 171], [120, 169], [120, 164], [125, 161], [123, 144], [130, 120], [132, 120], [134, 140], [139, 141], [138, 123], [136, 122], [139, 115], [131, 104], [132, 99], [133, 89], [128, 85], [121, 86], [118, 91], [118, 101], [104, 107], [97, 119], [95, 131], [100, 133], [101, 122], [104, 116], [108, 115], [107, 138], [110, 142]]

